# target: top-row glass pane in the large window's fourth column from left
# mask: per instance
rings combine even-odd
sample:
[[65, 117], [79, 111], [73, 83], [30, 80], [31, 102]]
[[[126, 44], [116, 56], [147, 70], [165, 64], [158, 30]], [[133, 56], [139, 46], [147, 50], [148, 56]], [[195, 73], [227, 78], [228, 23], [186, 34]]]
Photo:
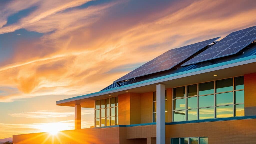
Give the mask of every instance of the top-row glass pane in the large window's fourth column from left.
[[233, 90], [233, 78], [216, 81], [216, 93]]

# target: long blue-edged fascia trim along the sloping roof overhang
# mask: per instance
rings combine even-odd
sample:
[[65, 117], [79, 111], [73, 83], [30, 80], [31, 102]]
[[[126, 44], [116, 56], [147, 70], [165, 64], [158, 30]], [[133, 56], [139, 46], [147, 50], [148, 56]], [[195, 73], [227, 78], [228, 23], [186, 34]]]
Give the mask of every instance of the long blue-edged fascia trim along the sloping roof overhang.
[[87, 97], [87, 96], [91, 96], [91, 95], [94, 95], [94, 94], [100, 94], [100, 93], [104, 93], [104, 92], [108, 92], [108, 91], [112, 91], [112, 90], [116, 90], [116, 89], [120, 89], [120, 88], [126, 88], [126, 87], [130, 87], [130, 86], [134, 86], [134, 85], [139, 85], [139, 84], [143, 84], [143, 83], [147, 83], [147, 82], [161, 80], [161, 79], [164, 79], [164, 78], [169, 78], [169, 77], [174, 77], [174, 76], [183, 75], [183, 74], [187, 74], [187, 73], [192, 73], [192, 72], [197, 72], [197, 71], [201, 71], [201, 70], [206, 70], [206, 69], [210, 69], [210, 68], [225, 66], [227, 64], [242, 62], [242, 61], [251, 60], [251, 59], [256, 59], [256, 55], [245, 57], [245, 58], [240, 58], [240, 59], [235, 59], [235, 60], [231, 60], [231, 61], [227, 61], [227, 62], [222, 62], [222, 63], [218, 63], [218, 64], [212, 64], [210, 66], [206, 66], [206, 67], [202, 67], [202, 68], [197, 68], [197, 69], [192, 69], [192, 70], [188, 70], [188, 71], [184, 71], [184, 72], [178, 72], [178, 73], [174, 73], [174, 74], [170, 74], [170, 75], [160, 76], [160, 77], [152, 78], [152, 79], [141, 81], [141, 82], [137, 82], [137, 83], [127, 84], [127, 85], [120, 86], [120, 87], [115, 87], [115, 88], [111, 88], [111, 89], [106, 89], [106, 90], [98, 91], [98, 92], [95, 92], [95, 93], [81, 95], [81, 96], [77, 96], [77, 97], [73, 97], [73, 98], [68, 98], [68, 99], [57, 101], [57, 103], [64, 103], [65, 101], [72, 100], [72, 99]]

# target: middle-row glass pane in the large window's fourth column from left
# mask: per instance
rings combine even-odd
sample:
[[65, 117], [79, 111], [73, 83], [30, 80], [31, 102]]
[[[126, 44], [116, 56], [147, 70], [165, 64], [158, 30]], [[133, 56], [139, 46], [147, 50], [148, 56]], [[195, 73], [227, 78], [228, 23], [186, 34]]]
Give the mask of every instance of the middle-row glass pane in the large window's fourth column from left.
[[216, 105], [233, 104], [233, 92], [216, 94]]

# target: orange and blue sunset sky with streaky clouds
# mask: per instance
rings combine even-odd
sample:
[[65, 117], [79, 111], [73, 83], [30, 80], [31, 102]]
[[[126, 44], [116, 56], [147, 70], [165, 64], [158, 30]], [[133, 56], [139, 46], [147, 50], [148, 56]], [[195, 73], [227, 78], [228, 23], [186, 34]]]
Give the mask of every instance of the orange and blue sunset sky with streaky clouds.
[[[165, 51], [256, 25], [254, 0], [0, 1], [0, 138], [74, 129], [56, 101], [99, 91]], [[82, 128], [94, 125], [82, 109]]]

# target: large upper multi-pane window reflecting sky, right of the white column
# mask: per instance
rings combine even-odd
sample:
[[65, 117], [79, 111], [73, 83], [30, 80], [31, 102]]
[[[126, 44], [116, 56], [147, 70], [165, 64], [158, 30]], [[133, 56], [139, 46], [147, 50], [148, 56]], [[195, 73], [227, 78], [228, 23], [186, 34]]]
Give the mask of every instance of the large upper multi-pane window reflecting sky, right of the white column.
[[173, 88], [173, 122], [234, 116], [244, 116], [243, 76]]

